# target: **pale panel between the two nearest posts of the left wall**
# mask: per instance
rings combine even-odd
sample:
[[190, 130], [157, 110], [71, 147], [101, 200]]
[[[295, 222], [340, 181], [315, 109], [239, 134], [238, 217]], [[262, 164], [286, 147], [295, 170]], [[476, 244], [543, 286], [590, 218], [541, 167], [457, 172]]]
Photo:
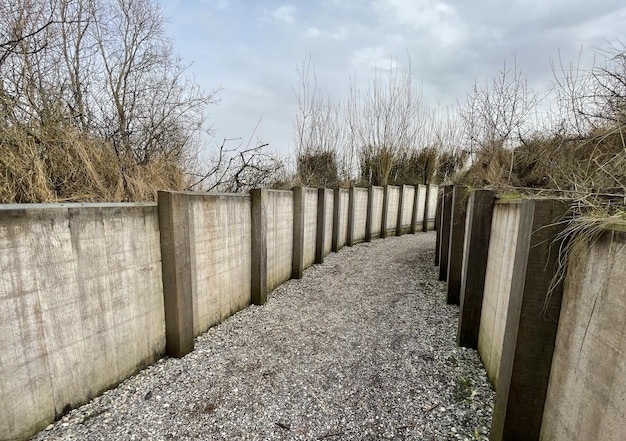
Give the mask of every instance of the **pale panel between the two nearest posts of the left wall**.
[[250, 303], [250, 196], [189, 198], [194, 334]]

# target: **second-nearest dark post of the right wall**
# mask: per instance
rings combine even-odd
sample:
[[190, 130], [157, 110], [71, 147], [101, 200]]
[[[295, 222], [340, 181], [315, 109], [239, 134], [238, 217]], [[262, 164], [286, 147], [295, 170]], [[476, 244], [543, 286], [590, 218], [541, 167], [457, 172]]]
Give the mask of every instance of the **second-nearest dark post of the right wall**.
[[476, 349], [483, 308], [491, 218], [496, 195], [491, 190], [473, 191], [467, 202], [465, 244], [461, 269], [461, 292], [457, 342]]

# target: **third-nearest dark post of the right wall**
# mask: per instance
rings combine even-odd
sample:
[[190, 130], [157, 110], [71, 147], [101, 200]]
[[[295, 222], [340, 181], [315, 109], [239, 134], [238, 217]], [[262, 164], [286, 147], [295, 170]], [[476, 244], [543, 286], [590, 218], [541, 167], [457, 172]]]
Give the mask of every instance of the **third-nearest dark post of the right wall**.
[[452, 189], [452, 212], [450, 214], [450, 243], [448, 251], [448, 304], [458, 305], [461, 295], [461, 267], [465, 242], [465, 213], [467, 187], [455, 185]]

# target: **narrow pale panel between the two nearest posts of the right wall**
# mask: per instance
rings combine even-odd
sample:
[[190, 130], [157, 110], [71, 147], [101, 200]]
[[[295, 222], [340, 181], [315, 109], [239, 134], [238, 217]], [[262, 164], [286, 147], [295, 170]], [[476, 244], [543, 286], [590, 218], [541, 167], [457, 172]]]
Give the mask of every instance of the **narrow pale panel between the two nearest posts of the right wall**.
[[478, 333], [478, 352], [493, 385], [498, 382], [502, 357], [520, 225], [520, 207], [520, 201], [497, 202], [493, 209], [482, 317]]

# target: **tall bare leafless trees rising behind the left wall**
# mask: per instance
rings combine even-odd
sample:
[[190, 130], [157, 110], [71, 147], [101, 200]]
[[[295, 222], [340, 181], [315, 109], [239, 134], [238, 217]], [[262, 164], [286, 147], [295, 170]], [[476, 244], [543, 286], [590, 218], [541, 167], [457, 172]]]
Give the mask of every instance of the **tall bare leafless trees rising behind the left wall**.
[[76, 197], [64, 176], [109, 186], [82, 198], [143, 198], [148, 179], [180, 187], [217, 101], [174, 53], [155, 0], [0, 0], [0, 78], [0, 149], [16, 167], [4, 179], [49, 187], [24, 190], [29, 201]]

